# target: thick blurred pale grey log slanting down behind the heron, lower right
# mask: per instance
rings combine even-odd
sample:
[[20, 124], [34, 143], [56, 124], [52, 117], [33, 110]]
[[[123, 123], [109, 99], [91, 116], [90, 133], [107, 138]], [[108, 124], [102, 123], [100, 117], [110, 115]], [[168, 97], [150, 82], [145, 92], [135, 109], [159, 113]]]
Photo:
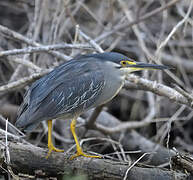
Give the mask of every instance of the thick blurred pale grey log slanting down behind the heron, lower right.
[[[119, 125], [121, 125], [121, 122], [117, 118], [103, 111], [96, 120], [95, 129], [108, 134], [108, 128], [113, 131], [113, 128], [116, 129]], [[103, 129], [98, 128], [99, 126], [103, 126]], [[107, 129], [107, 131], [105, 131], [105, 129]], [[112, 139], [119, 141], [121, 133], [123, 133], [123, 130], [116, 133], [110, 133], [109, 135], [111, 135]], [[153, 155], [149, 160], [149, 163], [153, 165], [168, 163], [170, 158], [175, 155], [172, 150], [152, 142], [135, 130], [125, 131], [121, 144], [126, 151], [140, 150], [142, 153], [153, 152]]]

